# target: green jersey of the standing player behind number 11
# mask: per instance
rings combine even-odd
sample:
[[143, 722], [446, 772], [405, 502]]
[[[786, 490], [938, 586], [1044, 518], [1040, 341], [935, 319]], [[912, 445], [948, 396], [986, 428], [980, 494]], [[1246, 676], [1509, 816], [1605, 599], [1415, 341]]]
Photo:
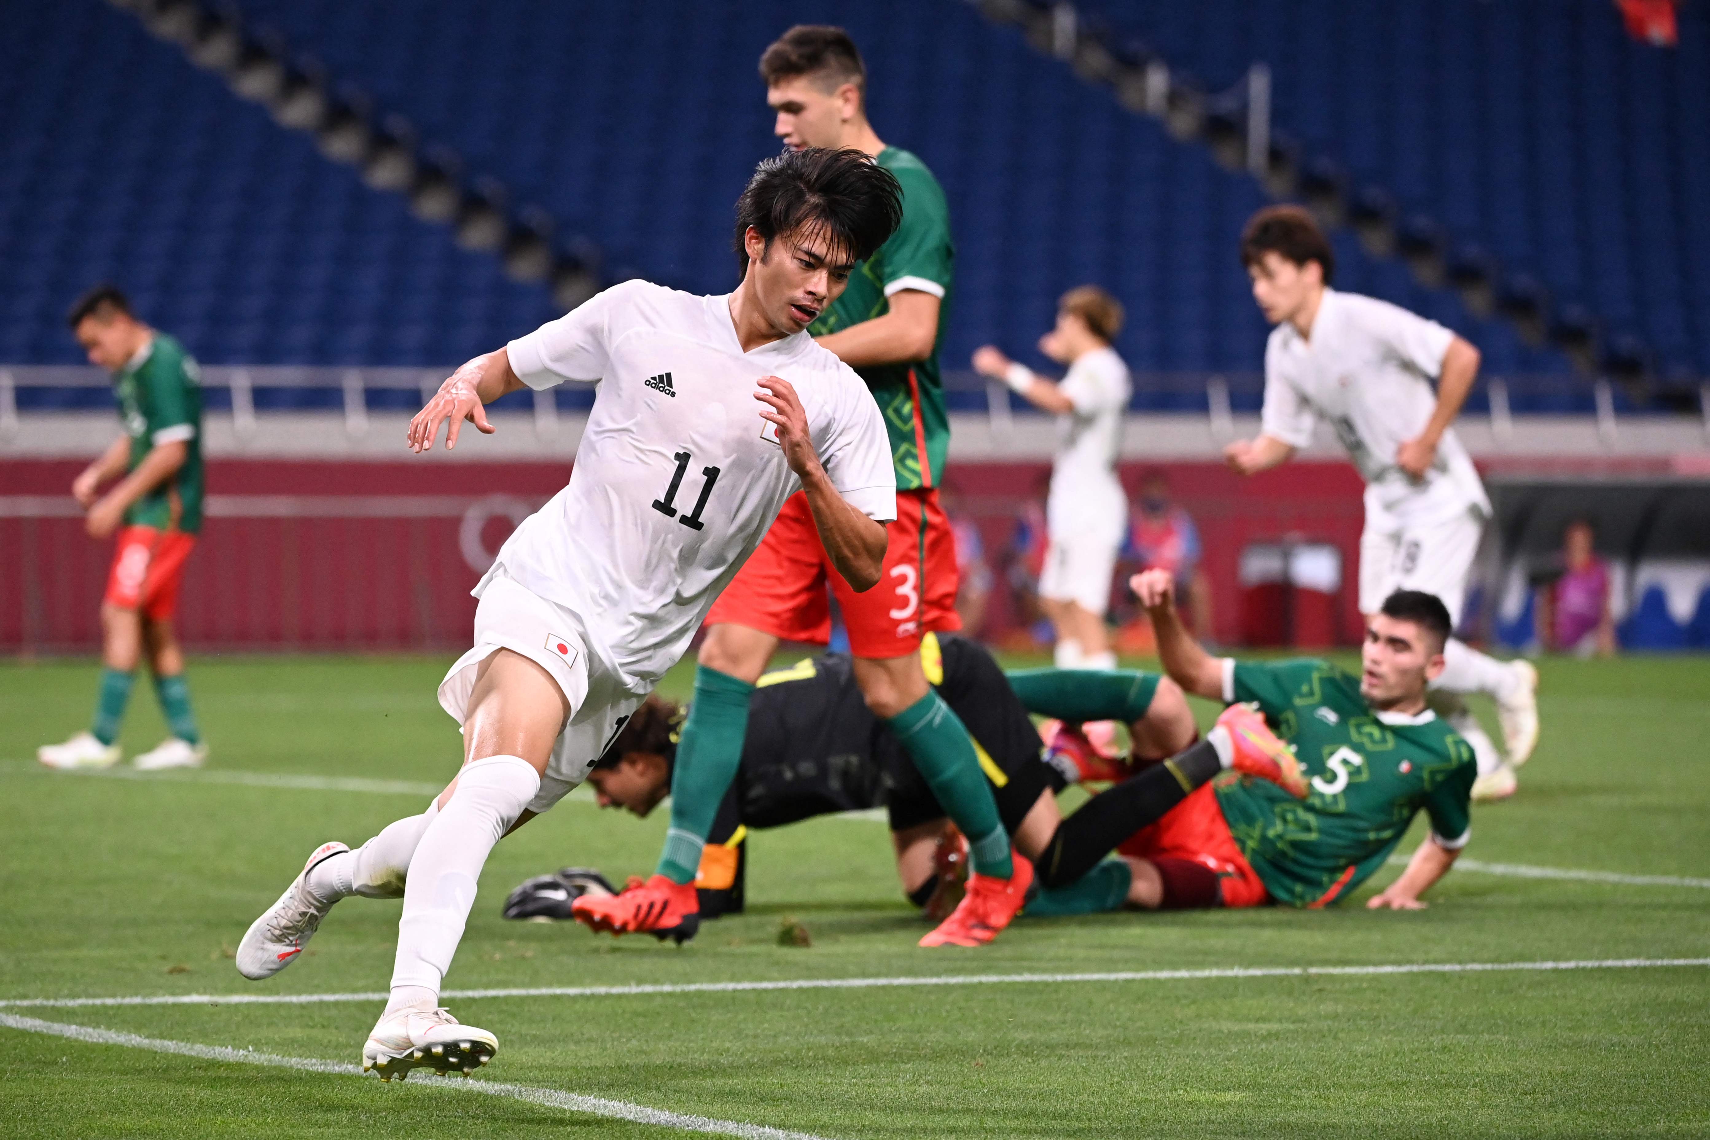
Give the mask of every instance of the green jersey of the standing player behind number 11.
[[896, 174], [903, 186], [903, 224], [877, 253], [855, 267], [843, 296], [819, 314], [811, 332], [823, 337], [884, 316], [891, 311], [891, 294], [903, 289], [920, 289], [939, 297], [939, 332], [927, 359], [855, 369], [884, 412], [896, 489], [917, 491], [937, 485], [951, 443], [939, 345], [944, 344], [944, 325], [951, 313], [956, 248], [951, 244], [944, 190], [925, 162], [898, 147], [881, 150], [877, 162]]

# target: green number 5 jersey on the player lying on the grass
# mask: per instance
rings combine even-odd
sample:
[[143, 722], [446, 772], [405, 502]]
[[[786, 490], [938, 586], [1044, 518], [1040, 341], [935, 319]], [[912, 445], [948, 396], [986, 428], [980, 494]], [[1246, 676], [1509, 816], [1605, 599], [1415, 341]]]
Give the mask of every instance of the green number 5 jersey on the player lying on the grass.
[[1238, 661], [1233, 694], [1224, 696], [1259, 702], [1312, 784], [1305, 800], [1233, 773], [1214, 784], [1235, 843], [1277, 902], [1346, 897], [1389, 858], [1421, 808], [1443, 846], [1467, 841], [1477, 764], [1435, 713], [1373, 711], [1358, 679], [1312, 660]]

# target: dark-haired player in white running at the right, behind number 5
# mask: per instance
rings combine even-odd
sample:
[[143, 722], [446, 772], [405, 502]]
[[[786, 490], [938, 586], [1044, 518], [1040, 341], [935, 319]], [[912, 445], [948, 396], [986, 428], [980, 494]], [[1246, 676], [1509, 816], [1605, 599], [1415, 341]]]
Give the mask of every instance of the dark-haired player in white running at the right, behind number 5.
[[[1423, 590], [1454, 620], [1491, 514], [1484, 484], [1450, 424], [1479, 371], [1479, 350], [1436, 321], [1330, 289], [1330, 243], [1293, 205], [1259, 210], [1241, 232], [1253, 299], [1276, 328], [1265, 345], [1265, 400], [1257, 439], [1224, 450], [1252, 475], [1288, 461], [1327, 422], [1366, 480], [1359, 537], [1359, 612], [1371, 620], [1390, 593]], [[1431, 391], [1431, 379], [1436, 391]], [[1498, 661], [1450, 639], [1433, 689], [1496, 699], [1507, 764], [1459, 697], [1450, 721], [1479, 757], [1476, 798], [1515, 788], [1513, 767], [1537, 743], [1537, 670]]]

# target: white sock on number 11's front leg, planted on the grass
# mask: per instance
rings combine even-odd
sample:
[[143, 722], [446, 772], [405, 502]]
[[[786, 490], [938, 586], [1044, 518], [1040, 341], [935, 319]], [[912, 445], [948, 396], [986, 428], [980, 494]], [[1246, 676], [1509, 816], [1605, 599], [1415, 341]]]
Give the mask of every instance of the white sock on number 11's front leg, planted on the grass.
[[458, 773], [451, 802], [428, 824], [410, 860], [392, 966], [398, 1003], [421, 1005], [422, 1000], [421, 993], [398, 990], [439, 993], [475, 902], [481, 868], [492, 844], [539, 791], [540, 774], [520, 755], [489, 755]]

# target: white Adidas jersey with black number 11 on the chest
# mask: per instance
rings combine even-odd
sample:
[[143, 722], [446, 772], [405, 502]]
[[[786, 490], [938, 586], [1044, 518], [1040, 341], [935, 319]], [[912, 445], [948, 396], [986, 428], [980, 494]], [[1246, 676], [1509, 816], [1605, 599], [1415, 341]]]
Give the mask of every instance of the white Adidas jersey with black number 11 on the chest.
[[744, 354], [728, 297], [624, 282], [513, 340], [510, 357], [530, 388], [598, 388], [569, 484], [516, 528], [489, 576], [578, 614], [633, 692], [682, 656], [800, 487], [759, 417], [761, 376], [795, 386], [843, 497], [896, 518], [891, 444], [867, 385], [805, 332]]

